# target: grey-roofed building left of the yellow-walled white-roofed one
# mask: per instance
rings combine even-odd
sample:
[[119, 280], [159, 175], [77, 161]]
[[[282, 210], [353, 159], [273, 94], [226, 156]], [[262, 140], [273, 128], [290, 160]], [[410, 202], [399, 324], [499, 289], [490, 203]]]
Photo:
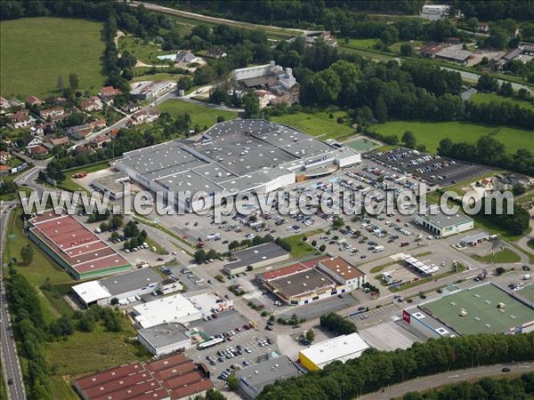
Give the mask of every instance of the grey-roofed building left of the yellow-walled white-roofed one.
[[239, 370], [239, 389], [250, 398], [262, 393], [263, 388], [278, 380], [286, 380], [303, 373], [287, 356], [270, 357], [259, 364], [250, 365]]

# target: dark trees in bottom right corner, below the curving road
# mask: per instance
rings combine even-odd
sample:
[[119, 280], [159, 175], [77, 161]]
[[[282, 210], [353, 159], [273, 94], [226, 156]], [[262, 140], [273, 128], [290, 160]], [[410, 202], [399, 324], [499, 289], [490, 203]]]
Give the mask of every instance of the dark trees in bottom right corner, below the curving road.
[[518, 378], [483, 378], [478, 382], [463, 381], [425, 393], [410, 392], [403, 400], [527, 400], [534, 397], [534, 372]]

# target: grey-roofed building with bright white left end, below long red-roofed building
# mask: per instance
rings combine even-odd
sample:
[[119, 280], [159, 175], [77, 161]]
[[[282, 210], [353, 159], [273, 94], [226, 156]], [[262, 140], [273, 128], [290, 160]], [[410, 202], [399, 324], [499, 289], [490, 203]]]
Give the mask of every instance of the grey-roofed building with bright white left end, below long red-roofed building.
[[93, 304], [108, 305], [112, 299], [120, 303], [134, 301], [135, 297], [158, 289], [161, 276], [152, 268], [136, 269], [126, 274], [72, 286], [72, 292], [86, 308]]

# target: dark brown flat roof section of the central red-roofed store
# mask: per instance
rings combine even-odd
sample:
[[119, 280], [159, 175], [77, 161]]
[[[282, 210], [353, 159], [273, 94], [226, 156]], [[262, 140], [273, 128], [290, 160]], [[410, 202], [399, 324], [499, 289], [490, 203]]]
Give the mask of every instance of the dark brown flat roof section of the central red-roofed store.
[[318, 269], [309, 268], [291, 276], [282, 276], [269, 281], [272, 290], [289, 299], [336, 287], [336, 282]]

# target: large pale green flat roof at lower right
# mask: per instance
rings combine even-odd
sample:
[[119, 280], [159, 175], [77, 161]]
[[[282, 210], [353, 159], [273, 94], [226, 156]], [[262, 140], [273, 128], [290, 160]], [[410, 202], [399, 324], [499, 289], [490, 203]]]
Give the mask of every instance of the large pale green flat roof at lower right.
[[[498, 308], [501, 302], [504, 308]], [[534, 319], [532, 308], [493, 284], [450, 294], [423, 308], [461, 334], [504, 332]], [[466, 316], [460, 316], [462, 309]]]

